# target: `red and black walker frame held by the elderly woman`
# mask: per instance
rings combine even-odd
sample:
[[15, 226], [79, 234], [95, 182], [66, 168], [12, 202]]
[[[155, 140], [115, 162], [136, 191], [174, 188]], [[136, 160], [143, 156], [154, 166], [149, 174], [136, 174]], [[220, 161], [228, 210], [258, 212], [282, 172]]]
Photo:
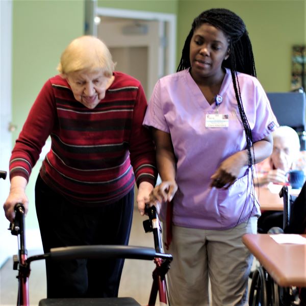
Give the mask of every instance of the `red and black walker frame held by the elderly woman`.
[[[123, 245], [92, 245], [92, 246], [71, 246], [53, 248], [48, 253], [27, 257], [27, 249], [25, 247], [25, 224], [24, 224], [24, 207], [18, 203], [15, 206], [16, 217], [14, 223], [10, 224], [9, 230], [12, 235], [18, 237], [18, 256], [14, 255], [14, 270], [18, 270], [18, 297], [17, 306], [29, 306], [29, 276], [30, 263], [32, 261], [56, 258], [56, 259], [72, 259], [72, 258], [129, 258], [154, 260], [156, 268], [152, 273], [153, 283], [151, 287], [149, 302], [147, 306], [154, 306], [157, 294], [159, 293], [160, 305], [168, 305], [167, 303], [167, 285], [165, 275], [172, 261], [171, 254], [165, 254], [162, 248], [161, 226], [155, 207], [146, 208], [148, 220], [143, 221], [145, 232], [152, 232], [154, 235], [155, 249], [147, 247], [134, 247]], [[109, 300], [109, 298], [107, 298]], [[120, 298], [114, 298], [119, 302]], [[44, 301], [47, 301], [45, 299]], [[55, 299], [53, 299], [54, 301]], [[60, 301], [60, 299], [58, 299]], [[80, 299], [81, 300], [81, 299]], [[84, 304], [88, 304], [84, 298]], [[103, 298], [98, 299], [99, 303], [103, 302]], [[60, 303], [58, 304], [60, 305]], [[65, 299], [65, 305], [67, 299]]]

